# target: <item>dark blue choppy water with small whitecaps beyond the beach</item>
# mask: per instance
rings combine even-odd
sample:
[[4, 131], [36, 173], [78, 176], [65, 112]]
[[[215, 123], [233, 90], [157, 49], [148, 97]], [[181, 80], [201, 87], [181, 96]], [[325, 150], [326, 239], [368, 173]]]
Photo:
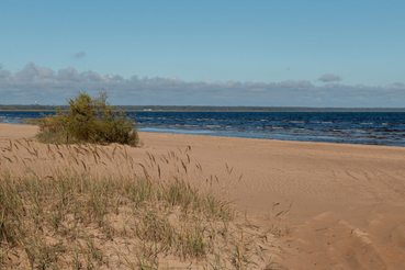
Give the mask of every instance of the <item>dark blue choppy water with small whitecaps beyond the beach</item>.
[[[49, 114], [49, 112], [44, 112]], [[139, 131], [265, 139], [405, 146], [405, 113], [136, 112]], [[41, 112], [0, 112], [21, 123]]]

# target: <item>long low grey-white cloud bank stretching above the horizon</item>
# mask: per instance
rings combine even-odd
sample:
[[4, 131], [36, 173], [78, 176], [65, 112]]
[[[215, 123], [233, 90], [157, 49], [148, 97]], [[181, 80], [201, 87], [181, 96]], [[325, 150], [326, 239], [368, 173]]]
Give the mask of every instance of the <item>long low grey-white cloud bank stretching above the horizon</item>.
[[54, 71], [29, 63], [11, 72], [0, 65], [0, 103], [66, 104], [66, 99], [86, 90], [95, 95], [105, 90], [113, 104], [128, 105], [262, 105], [404, 108], [405, 85], [347, 86], [308, 80], [281, 82], [194, 81], [172, 78], [123, 78], [68, 67]]

